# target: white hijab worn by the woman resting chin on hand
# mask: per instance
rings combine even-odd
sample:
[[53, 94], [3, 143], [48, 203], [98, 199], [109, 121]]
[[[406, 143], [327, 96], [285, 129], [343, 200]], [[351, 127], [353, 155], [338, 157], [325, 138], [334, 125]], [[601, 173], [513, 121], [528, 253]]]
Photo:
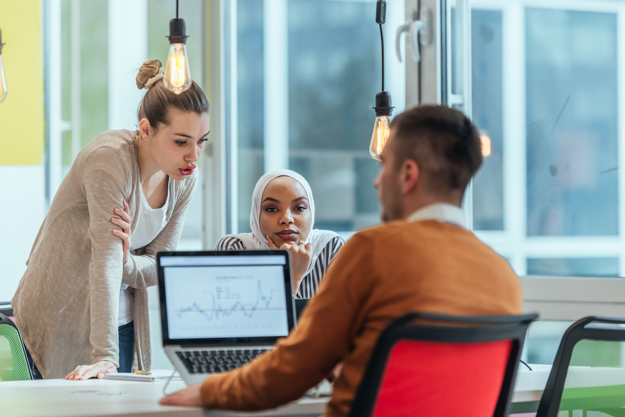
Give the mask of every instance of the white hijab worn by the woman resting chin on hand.
[[290, 169], [276, 169], [276, 171], [264, 174], [256, 183], [254, 193], [252, 194], [252, 212], [249, 215], [249, 226], [252, 229], [252, 233], [227, 234], [224, 238], [231, 237], [241, 239], [246, 249], [269, 249], [267, 237], [263, 236], [261, 233], [261, 222], [259, 220], [261, 214], [262, 193], [264, 193], [267, 184], [269, 184], [273, 179], [282, 176], [291, 177], [304, 187], [304, 191], [306, 191], [306, 197], [308, 199], [308, 206], [311, 211], [311, 229], [306, 240], [304, 241], [304, 243], [310, 243], [312, 246], [311, 263], [308, 265], [306, 274], [304, 274], [304, 276], [306, 276], [312, 271], [312, 268], [314, 268], [317, 258], [329, 241], [339, 235], [333, 231], [312, 228], [314, 225], [314, 199], [312, 198], [311, 186], [308, 184], [308, 181], [304, 179], [304, 177], [295, 171], [291, 171]]

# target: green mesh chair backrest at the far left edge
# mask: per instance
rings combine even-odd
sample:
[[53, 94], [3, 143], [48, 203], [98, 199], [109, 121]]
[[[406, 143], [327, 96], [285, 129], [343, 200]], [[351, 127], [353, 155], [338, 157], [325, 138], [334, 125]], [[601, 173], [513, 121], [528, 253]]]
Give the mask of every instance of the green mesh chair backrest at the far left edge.
[[0, 381], [29, 379], [32, 374], [19, 330], [11, 319], [0, 314]]

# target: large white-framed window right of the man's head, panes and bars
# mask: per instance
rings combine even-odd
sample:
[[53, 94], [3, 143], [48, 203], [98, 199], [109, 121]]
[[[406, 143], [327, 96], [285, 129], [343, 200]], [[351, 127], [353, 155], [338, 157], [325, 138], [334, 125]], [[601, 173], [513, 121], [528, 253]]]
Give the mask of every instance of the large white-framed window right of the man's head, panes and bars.
[[619, 1], [472, 1], [478, 236], [520, 275], [617, 276]]

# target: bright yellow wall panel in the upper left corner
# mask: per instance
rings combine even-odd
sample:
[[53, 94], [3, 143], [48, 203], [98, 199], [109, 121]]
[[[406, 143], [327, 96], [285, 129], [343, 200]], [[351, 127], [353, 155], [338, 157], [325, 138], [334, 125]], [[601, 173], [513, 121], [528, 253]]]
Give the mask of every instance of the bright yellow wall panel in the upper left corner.
[[0, 0], [0, 30], [9, 90], [0, 103], [0, 165], [40, 165], [45, 136], [41, 0]]

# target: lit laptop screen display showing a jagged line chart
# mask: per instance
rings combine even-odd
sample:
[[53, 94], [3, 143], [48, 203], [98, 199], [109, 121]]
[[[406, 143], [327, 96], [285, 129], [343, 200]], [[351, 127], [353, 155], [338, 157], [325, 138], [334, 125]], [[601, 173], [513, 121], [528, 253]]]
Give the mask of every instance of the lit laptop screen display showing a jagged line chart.
[[283, 276], [273, 265], [166, 271], [169, 337], [286, 336]]

